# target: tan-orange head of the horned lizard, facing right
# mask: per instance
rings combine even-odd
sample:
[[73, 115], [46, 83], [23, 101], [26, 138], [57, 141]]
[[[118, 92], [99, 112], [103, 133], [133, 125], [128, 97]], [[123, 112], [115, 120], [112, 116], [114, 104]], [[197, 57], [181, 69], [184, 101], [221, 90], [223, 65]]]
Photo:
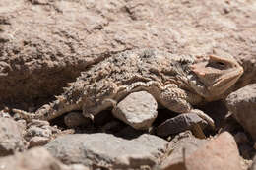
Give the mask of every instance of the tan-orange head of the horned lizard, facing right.
[[190, 67], [191, 85], [207, 101], [219, 99], [243, 74], [243, 68], [230, 57], [210, 55]]

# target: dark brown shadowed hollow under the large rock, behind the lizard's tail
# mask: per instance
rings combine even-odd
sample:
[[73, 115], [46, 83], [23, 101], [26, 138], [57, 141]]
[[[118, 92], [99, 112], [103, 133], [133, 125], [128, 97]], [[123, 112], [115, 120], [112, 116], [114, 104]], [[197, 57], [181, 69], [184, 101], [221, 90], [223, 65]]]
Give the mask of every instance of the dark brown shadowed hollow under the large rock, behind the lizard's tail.
[[[5, 89], [0, 96], [2, 105], [16, 107], [28, 110], [29, 107], [38, 107], [54, 99], [54, 95], [63, 92], [62, 87], [67, 83], [73, 82], [81, 72], [86, 71], [92, 65], [110, 57], [113, 54], [129, 50], [129, 48], [119, 51], [109, 51], [104, 53], [92, 54], [85, 56], [91, 60], [76, 61], [76, 63], [65, 63], [66, 65], [58, 68], [37, 68], [31, 73], [23, 73], [24, 69], [8, 73], [5, 77], [0, 78], [0, 85]], [[23, 73], [23, 74], [22, 74]], [[38, 84], [39, 81], [39, 84]]]

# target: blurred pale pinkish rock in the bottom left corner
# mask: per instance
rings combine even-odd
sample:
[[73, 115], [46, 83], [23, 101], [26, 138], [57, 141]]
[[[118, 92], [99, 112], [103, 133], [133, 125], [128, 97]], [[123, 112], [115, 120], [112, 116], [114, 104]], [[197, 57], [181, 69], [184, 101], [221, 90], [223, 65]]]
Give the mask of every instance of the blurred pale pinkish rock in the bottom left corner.
[[75, 170], [63, 165], [42, 147], [0, 158], [1, 170]]

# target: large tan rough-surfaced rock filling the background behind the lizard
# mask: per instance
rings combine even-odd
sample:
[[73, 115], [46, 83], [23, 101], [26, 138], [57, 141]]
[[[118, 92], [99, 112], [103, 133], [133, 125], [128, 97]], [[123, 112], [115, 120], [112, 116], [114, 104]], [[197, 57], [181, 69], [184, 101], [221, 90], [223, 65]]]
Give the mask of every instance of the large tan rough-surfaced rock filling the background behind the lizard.
[[[41, 105], [81, 71], [130, 48], [221, 53], [256, 82], [255, 1], [1, 0], [0, 101]], [[30, 26], [30, 27], [28, 27]]]

